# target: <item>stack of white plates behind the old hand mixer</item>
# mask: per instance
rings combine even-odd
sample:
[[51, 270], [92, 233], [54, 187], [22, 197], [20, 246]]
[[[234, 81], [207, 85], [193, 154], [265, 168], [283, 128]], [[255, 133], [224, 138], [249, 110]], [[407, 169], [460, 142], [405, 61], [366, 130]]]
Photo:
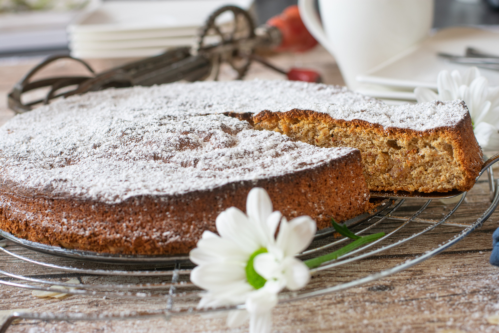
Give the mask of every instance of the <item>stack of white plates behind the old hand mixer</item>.
[[191, 46], [208, 16], [226, 4], [252, 0], [107, 0], [68, 25], [77, 58], [147, 57]]

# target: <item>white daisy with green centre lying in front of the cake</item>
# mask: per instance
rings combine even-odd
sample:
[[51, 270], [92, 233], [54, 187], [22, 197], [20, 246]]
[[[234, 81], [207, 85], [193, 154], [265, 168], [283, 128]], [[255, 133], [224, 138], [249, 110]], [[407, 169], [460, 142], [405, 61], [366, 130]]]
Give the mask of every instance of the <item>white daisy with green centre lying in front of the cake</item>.
[[284, 288], [303, 288], [310, 279], [308, 267], [294, 255], [310, 244], [316, 224], [308, 216], [288, 222], [272, 212], [261, 188], [248, 194], [246, 212], [231, 207], [217, 217], [220, 236], [203, 233], [189, 255], [198, 265], [191, 281], [206, 290], [198, 308], [245, 304], [245, 310], [229, 312], [228, 326], [241, 326], [249, 318], [250, 333], [268, 333], [277, 294]]

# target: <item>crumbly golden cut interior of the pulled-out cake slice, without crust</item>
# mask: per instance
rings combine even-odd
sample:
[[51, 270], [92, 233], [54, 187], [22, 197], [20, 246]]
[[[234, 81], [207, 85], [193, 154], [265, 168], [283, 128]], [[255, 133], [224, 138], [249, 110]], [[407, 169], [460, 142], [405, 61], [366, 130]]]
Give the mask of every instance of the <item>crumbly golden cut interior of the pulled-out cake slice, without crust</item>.
[[451, 138], [442, 133], [395, 135], [328, 117], [274, 115], [259, 119], [255, 128], [276, 131], [319, 147], [359, 149], [370, 190], [447, 192], [459, 189], [465, 182], [466, 175], [460, 171], [462, 166], [454, 156]]

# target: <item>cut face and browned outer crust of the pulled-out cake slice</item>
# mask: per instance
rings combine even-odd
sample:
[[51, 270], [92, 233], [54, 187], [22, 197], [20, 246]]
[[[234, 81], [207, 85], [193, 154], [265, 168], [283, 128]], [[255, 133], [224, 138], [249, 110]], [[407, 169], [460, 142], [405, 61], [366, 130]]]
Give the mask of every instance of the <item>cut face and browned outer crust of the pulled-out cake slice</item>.
[[[461, 101], [460, 105], [466, 108], [464, 102]], [[253, 122], [256, 128], [277, 131], [320, 147], [360, 149], [364, 175], [369, 189], [374, 191], [469, 191], [483, 165], [482, 151], [468, 112], [454, 126], [424, 131], [383, 127], [360, 119], [334, 119], [323, 112], [299, 109], [287, 112], [265, 110], [254, 115]], [[367, 142], [380, 147], [372, 149]], [[440, 162], [440, 169], [432, 166], [423, 170], [420, 165], [428, 160], [435, 164], [435, 161]], [[451, 162], [453, 165], [446, 166]]]

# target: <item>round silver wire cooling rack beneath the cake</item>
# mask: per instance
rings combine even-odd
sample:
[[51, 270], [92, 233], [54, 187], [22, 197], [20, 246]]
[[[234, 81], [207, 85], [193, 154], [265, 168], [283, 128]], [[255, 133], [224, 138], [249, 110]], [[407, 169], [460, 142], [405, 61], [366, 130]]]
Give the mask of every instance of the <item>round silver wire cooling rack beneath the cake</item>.
[[[378, 212], [356, 221], [351, 230], [358, 235], [385, 232], [381, 239], [352, 251], [337, 260], [311, 270], [310, 283], [297, 292], [284, 291], [279, 303], [330, 294], [382, 279], [419, 264], [456, 244], [492, 215], [499, 204], [499, 180], [494, 181], [492, 165], [486, 162], [481, 174], [489, 171], [491, 203], [477, 217], [467, 212], [467, 193], [453, 204], [434, 200], [390, 198], [378, 204]], [[488, 197], [486, 195], [482, 195]], [[487, 198], [488, 199], [488, 198]], [[435, 217], [440, 216], [439, 219]], [[349, 242], [337, 234], [322, 235], [299, 255], [306, 260], [321, 256]], [[91, 298], [118, 299], [129, 311], [118, 313], [28, 313], [15, 312], [0, 327], [7, 331], [14, 320], [98, 321], [151, 319], [244, 309], [244, 305], [217, 309], [197, 309], [199, 292], [189, 281], [194, 267], [186, 260], [168, 263], [103, 263], [63, 258], [30, 250], [6, 239], [0, 240], [0, 284], [24, 290], [51, 291], [51, 286], [67, 288], [64, 293]], [[66, 283], [77, 279], [79, 284]], [[127, 306], [129, 304], [129, 306]], [[140, 311], [138, 310], [140, 309]]]

